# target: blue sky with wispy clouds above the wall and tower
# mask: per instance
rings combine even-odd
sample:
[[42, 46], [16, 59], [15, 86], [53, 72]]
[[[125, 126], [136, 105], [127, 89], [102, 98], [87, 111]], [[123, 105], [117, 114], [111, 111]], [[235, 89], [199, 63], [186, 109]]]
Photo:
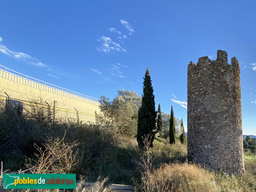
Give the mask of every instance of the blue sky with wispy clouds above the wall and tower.
[[217, 50], [241, 68], [243, 132], [256, 135], [256, 1], [2, 1], [0, 64], [91, 97], [142, 93], [183, 117], [187, 66]]

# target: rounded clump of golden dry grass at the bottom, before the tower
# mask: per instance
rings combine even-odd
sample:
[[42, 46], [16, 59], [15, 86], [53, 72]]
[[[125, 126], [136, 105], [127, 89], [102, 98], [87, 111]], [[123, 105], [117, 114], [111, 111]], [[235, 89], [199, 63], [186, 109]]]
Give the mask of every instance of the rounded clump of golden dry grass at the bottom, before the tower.
[[[163, 164], [149, 175], [150, 192], [215, 192], [214, 174], [195, 164]], [[142, 183], [142, 185], [145, 185]]]

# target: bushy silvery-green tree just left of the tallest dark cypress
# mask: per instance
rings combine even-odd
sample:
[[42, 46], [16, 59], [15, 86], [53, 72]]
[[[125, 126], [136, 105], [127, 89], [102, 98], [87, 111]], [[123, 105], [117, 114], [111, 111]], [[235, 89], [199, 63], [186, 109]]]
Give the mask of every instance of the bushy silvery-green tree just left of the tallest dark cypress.
[[112, 120], [119, 131], [133, 136], [137, 131], [138, 110], [141, 106], [141, 97], [136, 93], [121, 89], [117, 96], [110, 101], [106, 96], [100, 97], [100, 110], [105, 117]]

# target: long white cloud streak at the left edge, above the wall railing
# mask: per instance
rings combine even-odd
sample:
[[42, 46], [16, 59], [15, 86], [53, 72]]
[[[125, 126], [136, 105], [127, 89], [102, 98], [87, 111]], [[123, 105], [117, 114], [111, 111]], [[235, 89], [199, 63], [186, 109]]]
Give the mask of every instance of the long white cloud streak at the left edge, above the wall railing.
[[[3, 39], [0, 37], [0, 42], [2, 42]], [[5, 45], [0, 43], [0, 52], [2, 52], [4, 55], [13, 57], [17, 60], [22, 60], [23, 62], [26, 62], [30, 65], [35, 65], [38, 67], [47, 67], [46, 64], [40, 62], [38, 59], [31, 57], [30, 55], [23, 53], [23, 52], [16, 52], [8, 49]]]

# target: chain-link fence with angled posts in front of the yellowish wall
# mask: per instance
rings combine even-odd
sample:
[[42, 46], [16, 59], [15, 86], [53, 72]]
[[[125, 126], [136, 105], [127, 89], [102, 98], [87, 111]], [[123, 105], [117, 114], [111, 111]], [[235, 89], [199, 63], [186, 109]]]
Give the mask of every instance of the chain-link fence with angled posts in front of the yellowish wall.
[[99, 124], [100, 117], [96, 111], [90, 109], [51, 99], [46, 100], [40, 98], [40, 96], [13, 91], [1, 86], [0, 108], [26, 118], [36, 118], [53, 123]]

